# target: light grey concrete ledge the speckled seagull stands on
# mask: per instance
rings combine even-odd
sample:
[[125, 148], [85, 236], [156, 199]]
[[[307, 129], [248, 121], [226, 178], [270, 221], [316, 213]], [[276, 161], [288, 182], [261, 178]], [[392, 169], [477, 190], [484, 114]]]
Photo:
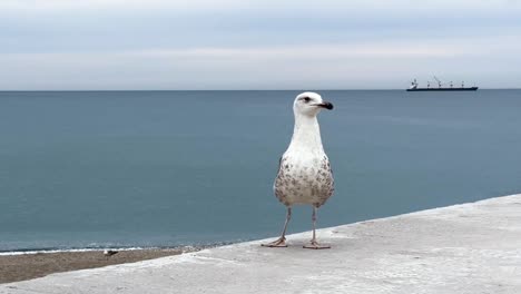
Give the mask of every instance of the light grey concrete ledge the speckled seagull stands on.
[[521, 195], [0, 285], [0, 293], [521, 293]]

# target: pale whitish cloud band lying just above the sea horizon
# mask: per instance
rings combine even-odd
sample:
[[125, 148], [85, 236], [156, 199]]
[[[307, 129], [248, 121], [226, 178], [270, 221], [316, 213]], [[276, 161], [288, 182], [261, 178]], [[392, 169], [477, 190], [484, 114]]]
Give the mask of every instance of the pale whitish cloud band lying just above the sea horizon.
[[[264, 48], [149, 49], [0, 56], [3, 89], [399, 88], [413, 77], [514, 85], [515, 36], [431, 41]], [[509, 42], [509, 47], [501, 43]], [[493, 58], [490, 58], [493, 56]], [[517, 69], [502, 71], [505, 66]], [[483, 85], [489, 86], [493, 85]]]

